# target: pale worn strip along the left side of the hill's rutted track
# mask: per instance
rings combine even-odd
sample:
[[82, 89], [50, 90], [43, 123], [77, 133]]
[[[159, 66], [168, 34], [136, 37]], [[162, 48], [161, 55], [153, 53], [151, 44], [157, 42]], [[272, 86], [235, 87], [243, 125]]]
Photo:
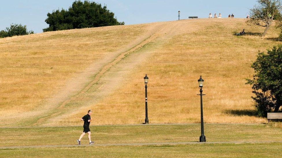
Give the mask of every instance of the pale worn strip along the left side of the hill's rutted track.
[[[50, 113], [50, 110], [57, 108], [57, 106], [60, 105], [62, 102], [66, 103], [67, 100], [69, 100], [72, 96], [75, 96], [77, 93], [79, 93], [79, 91], [85, 89], [84, 88], [85, 85], [91, 82], [92, 80], [91, 77], [99, 73], [99, 71], [101, 71], [101, 69], [103, 69], [104, 66], [107, 66], [109, 62], [120, 56], [120, 54], [127, 52], [129, 49], [136, 47], [136, 45], [139, 45], [142, 41], [144, 41], [145, 39], [150, 37], [153, 33], [155, 33], [158, 27], [161, 25], [163, 25], [163, 23], [159, 23], [159, 24], [156, 23], [153, 25], [148, 24], [148, 26], [145, 27], [147, 31], [145, 31], [143, 35], [139, 36], [137, 39], [129, 43], [122, 50], [113, 52], [109, 56], [105, 56], [105, 58], [95, 61], [90, 66], [88, 66], [88, 68], [86, 68], [84, 71], [68, 79], [64, 87], [60, 88], [60, 90], [58, 90], [58, 93], [53, 94], [53, 96], [51, 96], [50, 98], [47, 98], [47, 100], [41, 106], [38, 106], [33, 111], [14, 115], [13, 117], [18, 120], [18, 125], [21, 124], [25, 125], [25, 123], [22, 122], [29, 122], [30, 121], [29, 118], [34, 119], [32, 117], [38, 117], [39, 115], [43, 115], [42, 117], [44, 117], [46, 113]], [[0, 117], [0, 120], [5, 120], [5, 119], [6, 117]], [[31, 124], [27, 123], [27, 125], [31, 125]]]

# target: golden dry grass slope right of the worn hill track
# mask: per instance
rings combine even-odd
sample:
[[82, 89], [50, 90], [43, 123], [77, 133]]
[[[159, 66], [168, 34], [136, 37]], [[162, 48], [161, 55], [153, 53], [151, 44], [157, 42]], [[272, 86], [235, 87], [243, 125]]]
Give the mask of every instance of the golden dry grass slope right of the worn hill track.
[[[245, 85], [245, 78], [253, 74], [250, 66], [258, 50], [279, 44], [272, 40], [278, 30], [273, 27], [265, 38], [237, 37], [234, 31], [245, 28], [246, 32], [257, 33], [263, 28], [247, 26], [243, 19], [201, 19], [193, 24], [204, 28], [173, 37], [126, 76], [122, 88], [90, 107], [95, 113], [95, 124], [144, 122], [145, 73], [149, 76], [150, 123], [199, 123], [200, 98], [196, 94], [200, 75], [207, 94], [203, 97], [206, 123], [266, 122], [252, 116], [251, 87]], [[78, 124], [75, 119], [84, 113], [64, 121]]]

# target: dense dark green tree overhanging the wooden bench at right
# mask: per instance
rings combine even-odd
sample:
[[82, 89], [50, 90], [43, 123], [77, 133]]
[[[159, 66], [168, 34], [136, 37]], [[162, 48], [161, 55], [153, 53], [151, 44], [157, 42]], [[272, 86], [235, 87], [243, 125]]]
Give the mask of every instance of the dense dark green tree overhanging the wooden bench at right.
[[282, 45], [266, 53], [259, 52], [251, 67], [255, 74], [246, 84], [252, 85], [259, 116], [266, 116], [272, 110], [278, 112], [282, 106]]

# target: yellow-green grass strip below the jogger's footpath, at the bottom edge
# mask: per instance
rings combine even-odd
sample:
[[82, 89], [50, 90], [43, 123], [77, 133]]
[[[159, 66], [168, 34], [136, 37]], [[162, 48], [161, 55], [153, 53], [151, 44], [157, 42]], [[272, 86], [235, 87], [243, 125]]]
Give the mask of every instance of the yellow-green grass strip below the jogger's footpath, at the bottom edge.
[[281, 143], [2, 149], [0, 157], [280, 157]]

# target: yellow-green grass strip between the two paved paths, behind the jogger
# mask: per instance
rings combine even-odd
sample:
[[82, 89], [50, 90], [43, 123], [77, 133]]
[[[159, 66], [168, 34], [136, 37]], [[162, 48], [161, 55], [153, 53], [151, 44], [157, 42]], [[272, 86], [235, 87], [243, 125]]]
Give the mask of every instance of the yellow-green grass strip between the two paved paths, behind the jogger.
[[[197, 142], [200, 124], [90, 126], [97, 144]], [[0, 146], [73, 145], [83, 127], [0, 128]], [[282, 130], [271, 124], [205, 124], [207, 142], [282, 141]], [[279, 136], [279, 137], [278, 137]], [[87, 134], [82, 144], [87, 144]]]

